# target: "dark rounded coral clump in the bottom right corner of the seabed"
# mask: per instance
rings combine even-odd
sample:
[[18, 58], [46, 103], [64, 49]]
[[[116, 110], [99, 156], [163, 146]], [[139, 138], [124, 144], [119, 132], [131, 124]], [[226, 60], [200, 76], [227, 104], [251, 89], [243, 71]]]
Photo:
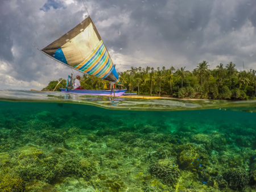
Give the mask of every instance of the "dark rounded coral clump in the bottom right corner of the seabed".
[[249, 182], [248, 173], [242, 168], [232, 168], [225, 170], [223, 177], [229, 183], [231, 189], [243, 188]]

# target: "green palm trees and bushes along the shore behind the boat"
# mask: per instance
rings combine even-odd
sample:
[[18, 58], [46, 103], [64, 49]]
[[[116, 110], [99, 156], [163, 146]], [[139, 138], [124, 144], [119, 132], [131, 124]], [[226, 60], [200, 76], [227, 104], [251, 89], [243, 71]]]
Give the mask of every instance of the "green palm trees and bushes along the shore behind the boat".
[[[123, 89], [127, 93], [140, 95], [157, 95], [177, 98], [208, 98], [208, 99], [255, 99], [256, 70], [238, 71], [236, 64], [217, 65], [209, 69], [207, 61], [199, 63], [192, 72], [186, 67], [167, 69], [134, 68], [118, 73]], [[60, 79], [59, 81], [61, 81]], [[59, 81], [51, 81], [43, 90], [53, 90]], [[65, 87], [66, 80], [57, 86]], [[81, 77], [81, 85], [85, 89], [100, 90], [108, 81], [89, 75]], [[117, 88], [118, 89], [118, 88]]]

